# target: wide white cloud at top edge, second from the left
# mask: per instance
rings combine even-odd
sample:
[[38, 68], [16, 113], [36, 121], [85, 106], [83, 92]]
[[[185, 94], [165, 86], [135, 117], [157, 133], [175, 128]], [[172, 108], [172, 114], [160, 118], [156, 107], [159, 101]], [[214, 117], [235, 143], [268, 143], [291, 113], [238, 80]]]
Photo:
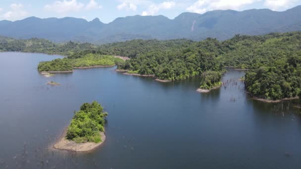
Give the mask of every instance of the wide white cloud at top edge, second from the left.
[[83, 9], [91, 10], [99, 8], [102, 8], [102, 6], [98, 4], [98, 2], [96, 2], [95, 0], [90, 0], [90, 2], [87, 5], [77, 2], [77, 0], [57, 0], [52, 4], [47, 4], [44, 6], [44, 9], [59, 14], [64, 14], [68, 12], [78, 12]]

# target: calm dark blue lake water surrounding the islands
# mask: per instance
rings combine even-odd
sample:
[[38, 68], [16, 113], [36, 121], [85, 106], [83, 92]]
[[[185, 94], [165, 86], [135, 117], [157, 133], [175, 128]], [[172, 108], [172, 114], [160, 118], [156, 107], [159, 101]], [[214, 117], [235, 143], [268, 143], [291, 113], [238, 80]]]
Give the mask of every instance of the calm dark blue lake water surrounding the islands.
[[[196, 92], [199, 78], [152, 78], [76, 70], [44, 77], [40, 61], [57, 55], [0, 53], [0, 169], [300, 169], [301, 116], [293, 103], [247, 97], [243, 72]], [[60, 86], [49, 86], [54, 81]], [[51, 149], [73, 112], [97, 100], [109, 113], [95, 151]]]

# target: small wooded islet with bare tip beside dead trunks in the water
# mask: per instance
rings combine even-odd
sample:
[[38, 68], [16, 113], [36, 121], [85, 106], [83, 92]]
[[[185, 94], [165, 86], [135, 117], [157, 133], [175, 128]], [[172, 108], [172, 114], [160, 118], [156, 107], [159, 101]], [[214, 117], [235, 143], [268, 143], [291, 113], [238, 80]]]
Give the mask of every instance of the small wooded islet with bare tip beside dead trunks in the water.
[[212, 89], [219, 88], [222, 85], [222, 82], [220, 81], [221, 78], [221, 72], [206, 71], [202, 73], [200, 88], [198, 88], [197, 91], [201, 93], [207, 93]]

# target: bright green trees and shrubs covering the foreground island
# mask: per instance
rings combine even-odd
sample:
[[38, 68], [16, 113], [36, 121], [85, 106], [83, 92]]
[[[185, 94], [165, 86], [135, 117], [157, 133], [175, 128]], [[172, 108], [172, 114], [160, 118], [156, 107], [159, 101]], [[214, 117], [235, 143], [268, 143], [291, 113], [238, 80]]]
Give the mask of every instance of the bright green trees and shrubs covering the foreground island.
[[98, 102], [84, 103], [71, 120], [67, 130], [67, 139], [77, 143], [100, 142], [100, 131], [104, 131], [106, 116], [107, 113], [103, 112]]

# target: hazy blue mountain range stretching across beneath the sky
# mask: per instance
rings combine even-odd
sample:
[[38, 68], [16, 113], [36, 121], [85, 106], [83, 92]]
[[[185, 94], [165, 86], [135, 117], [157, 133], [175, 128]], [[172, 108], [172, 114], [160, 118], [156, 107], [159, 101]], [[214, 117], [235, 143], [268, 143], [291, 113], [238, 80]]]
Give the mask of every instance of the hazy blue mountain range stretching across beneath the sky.
[[54, 42], [108, 43], [132, 39], [191, 39], [208, 37], [226, 40], [235, 34], [262, 35], [270, 32], [301, 31], [301, 5], [277, 12], [269, 9], [245, 11], [214, 10], [204, 14], [182, 13], [175, 19], [165, 16], [127, 16], [104, 24], [98, 18], [65, 17], [0, 21], [0, 36]]

